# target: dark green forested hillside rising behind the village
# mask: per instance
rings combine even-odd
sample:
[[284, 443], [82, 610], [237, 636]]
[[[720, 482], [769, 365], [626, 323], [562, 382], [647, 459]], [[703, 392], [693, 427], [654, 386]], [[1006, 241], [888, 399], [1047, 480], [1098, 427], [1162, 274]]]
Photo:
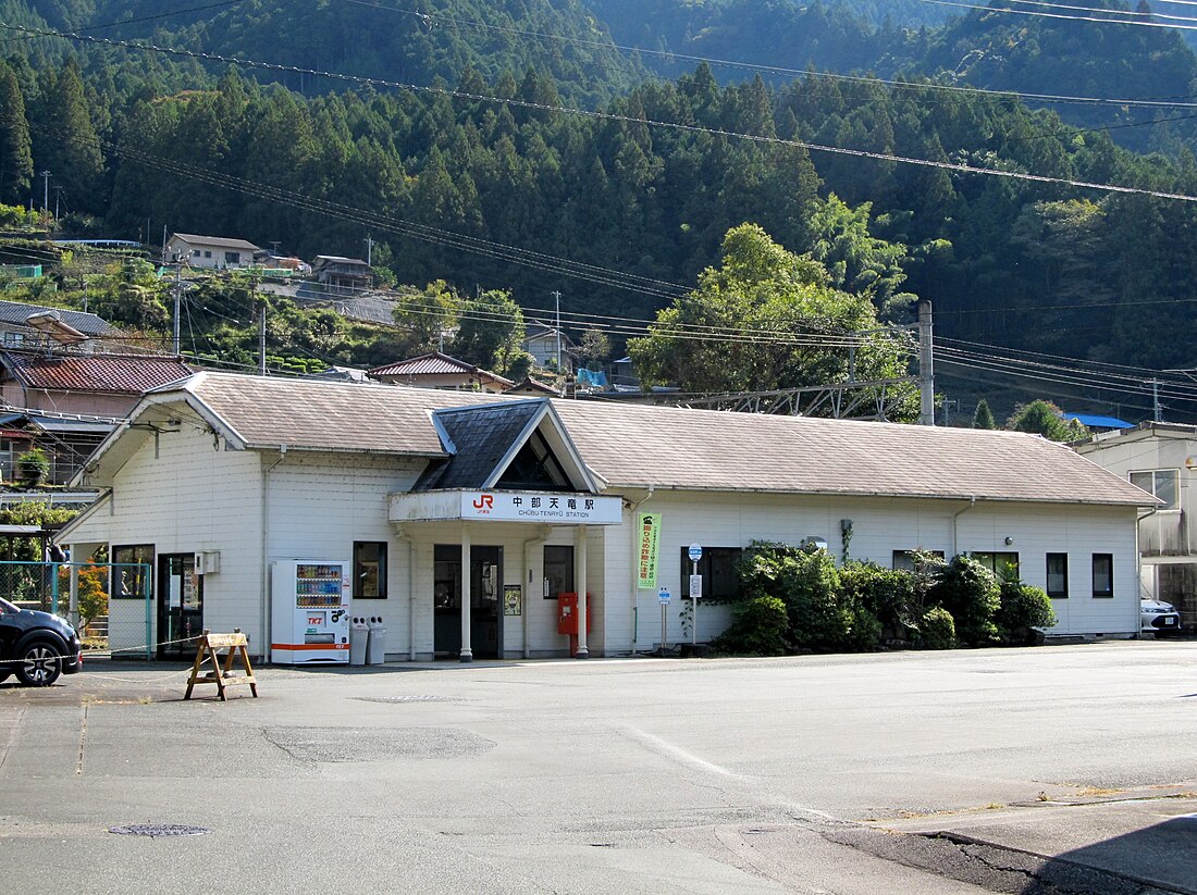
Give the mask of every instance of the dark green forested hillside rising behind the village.
[[[770, 16], [741, 19], [735, 39], [773, 29], [776, 49], [795, 29], [819, 51], [838, 48], [845, 66], [851, 54], [882, 53], [876, 65], [906, 80], [814, 71], [728, 79], [718, 60], [646, 79], [637, 66], [650, 57], [614, 51], [598, 18], [620, 23], [616, 43], [628, 39], [620, 29], [633, 12], [622, 0], [589, 0], [590, 12], [572, 0], [452, 1], [430, 26], [364, 2], [187, 12], [183, 2], [79, 0], [34, 4], [35, 16], [0, 0], [8, 24], [93, 28], [242, 60], [235, 68], [136, 45], [10, 39], [0, 201], [29, 203], [47, 185], [34, 172], [49, 171], [71, 235], [154, 242], [165, 227], [278, 242], [304, 257], [360, 255], [371, 237], [375, 263], [402, 284], [511, 290], [525, 309], [560, 291], [575, 312], [642, 321], [693, 288], [728, 231], [747, 221], [809, 252], [886, 319], [909, 319], [919, 296], [935, 302], [947, 339], [1191, 365], [1197, 208], [1185, 197], [1197, 194], [1197, 166], [1184, 123], [1146, 123], [1162, 114], [1126, 104], [1101, 118], [1108, 103], [1055, 111], [943, 89], [1021, 78], [1027, 91], [1110, 97], [1113, 78], [1125, 77], [1123, 96], [1181, 96], [1197, 72], [1174, 35], [1047, 20], [1013, 29], [989, 14], [904, 30], [853, 18], [845, 5], [727, 0], [691, 14]], [[636, 20], [658, 16], [675, 28], [675, 7], [639, 4]], [[468, 17], [490, 26], [461, 26]], [[718, 34], [734, 37], [716, 29], [687, 41]], [[1092, 60], [1086, 48], [1099, 39], [1104, 55]], [[305, 71], [280, 75], [257, 65], [266, 61]], [[925, 80], [919, 66], [954, 74]], [[407, 83], [433, 90], [399, 86]], [[1062, 117], [1077, 114], [1093, 118], [1088, 128]], [[1119, 147], [1129, 133], [1168, 152]]]

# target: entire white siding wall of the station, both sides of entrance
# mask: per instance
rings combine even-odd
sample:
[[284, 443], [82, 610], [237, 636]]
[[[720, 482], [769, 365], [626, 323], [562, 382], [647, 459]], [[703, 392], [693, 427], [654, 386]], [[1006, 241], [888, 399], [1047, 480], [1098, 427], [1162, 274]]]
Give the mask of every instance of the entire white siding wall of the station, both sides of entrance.
[[[292, 451], [280, 459], [271, 452], [227, 451], [209, 433], [184, 427], [159, 436], [157, 448], [147, 439], [116, 476], [110, 506], [92, 512], [71, 540], [152, 543], [158, 554], [219, 550], [219, 573], [205, 578], [203, 623], [214, 631], [239, 627], [250, 635], [255, 654], [257, 645], [267, 643], [263, 567], [269, 561], [348, 560], [354, 541], [385, 542], [388, 598], [356, 601], [351, 611], [382, 616], [390, 658], [407, 658], [414, 643], [417, 658], [427, 659], [433, 653], [433, 546], [460, 543], [461, 531], [451, 523], [408, 523], [396, 531], [388, 522], [387, 495], [411, 488], [421, 468], [423, 461], [366, 455]], [[266, 501], [263, 475], [269, 477]], [[1019, 553], [1023, 579], [1041, 587], [1045, 554], [1068, 553], [1070, 596], [1055, 601], [1059, 625], [1053, 633], [1119, 637], [1138, 631], [1134, 507], [658, 492], [640, 509], [663, 515], [660, 582], [675, 595], [667, 613], [670, 644], [682, 639], [682, 601], [676, 595], [688, 566], [681, 567], [681, 548], [692, 542], [747, 547], [754, 540], [797, 544], [804, 537], [821, 537], [840, 561], [841, 519], [852, 520], [851, 558], [886, 567], [894, 550], [917, 547], [949, 556], [1013, 550]], [[660, 641], [657, 593], [634, 586], [634, 512], [625, 510], [621, 525], [587, 530], [594, 656], [649, 652]], [[263, 525], [269, 531], [265, 555]], [[524, 555], [525, 542], [541, 532], [540, 526], [514, 523], [476, 523], [470, 529], [474, 544], [504, 548], [503, 584], [523, 587], [523, 615], [503, 617], [504, 652], [511, 658], [524, 654], [525, 631], [527, 651], [534, 657], [567, 650], [567, 638], [557, 633], [557, 601], [541, 595], [541, 543], [528, 559]], [[573, 528], [554, 528], [547, 543], [573, 544], [576, 536]], [[1114, 556], [1112, 599], [1092, 596], [1094, 553]], [[111, 608], [114, 631], [126, 629], [122, 613], [135, 614], [134, 622], [144, 617], [138, 601], [113, 601]], [[699, 641], [716, 637], [729, 619], [728, 607], [700, 605]], [[114, 643], [116, 649], [136, 645]]]

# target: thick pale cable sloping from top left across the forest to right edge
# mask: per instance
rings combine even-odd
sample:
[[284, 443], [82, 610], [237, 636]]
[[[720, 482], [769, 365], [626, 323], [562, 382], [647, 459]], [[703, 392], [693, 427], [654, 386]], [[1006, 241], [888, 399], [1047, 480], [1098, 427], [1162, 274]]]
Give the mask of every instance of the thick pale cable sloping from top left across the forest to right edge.
[[[938, 0], [928, 0], [928, 2], [936, 2]], [[145, 50], [148, 53], [164, 53], [169, 55], [186, 56], [190, 59], [199, 59], [209, 62], [221, 62], [226, 65], [244, 66], [247, 68], [261, 68], [263, 71], [281, 72], [288, 74], [310, 74], [314, 77], [329, 78], [333, 80], [344, 80], [353, 84], [360, 84], [363, 86], [372, 87], [388, 87], [395, 90], [409, 90], [421, 93], [427, 93], [432, 96], [445, 96], [457, 99], [468, 99], [475, 103], [497, 103], [500, 105], [512, 105], [521, 109], [533, 109], [536, 111], [546, 111], [551, 114], [563, 114], [563, 115], [577, 115], [581, 117], [588, 117], [596, 121], [612, 121], [622, 124], [633, 124], [638, 127], [656, 127], [670, 130], [678, 130], [681, 133], [695, 133], [695, 134], [707, 134], [712, 136], [725, 136], [735, 140], [748, 140], [752, 142], [758, 142], [762, 145], [774, 145], [785, 146], [790, 148], [806, 150], [808, 152], [826, 152], [831, 154], [847, 156], [851, 158], [867, 158], [876, 162], [893, 162], [895, 164], [905, 165], [917, 165], [922, 168], [934, 168], [946, 171], [954, 171], [956, 173], [967, 175], [982, 175], [990, 177], [1004, 177], [1007, 179], [1014, 181], [1026, 181], [1031, 183], [1044, 183], [1061, 187], [1073, 187], [1076, 189], [1093, 189], [1102, 193], [1118, 193], [1125, 195], [1142, 195], [1152, 196], [1154, 199], [1169, 199], [1184, 202], [1197, 202], [1197, 196], [1186, 195], [1183, 193], [1168, 193], [1163, 190], [1152, 190], [1143, 189], [1138, 187], [1122, 187], [1110, 183], [1090, 183], [1087, 181], [1076, 181], [1067, 177], [1050, 177], [1046, 175], [1034, 175], [1022, 171], [1007, 171], [995, 168], [977, 168], [974, 165], [964, 163], [952, 163], [952, 162], [938, 162], [931, 159], [920, 159], [909, 156], [898, 156], [887, 152], [873, 152], [868, 150], [852, 150], [841, 146], [827, 146], [822, 144], [808, 142], [804, 140], [783, 139], [779, 136], [765, 136], [761, 134], [745, 134], [735, 130], [727, 130], [722, 128], [710, 128], [701, 127], [698, 124], [686, 124], [682, 122], [670, 122], [670, 121], [656, 121], [652, 118], [634, 117], [632, 115], [621, 115], [610, 111], [598, 111], [593, 109], [578, 109], [571, 106], [560, 105], [548, 105], [546, 103], [534, 103], [523, 99], [506, 98], [506, 97], [490, 97], [485, 95], [468, 93], [460, 90], [451, 90], [449, 87], [438, 86], [421, 86], [417, 84], [406, 84], [402, 81], [390, 81], [381, 78], [367, 78], [364, 75], [352, 75], [341, 72], [327, 72], [315, 68], [304, 68], [299, 66], [285, 66], [274, 62], [260, 62], [256, 60], [249, 60], [244, 57], [236, 56], [223, 56], [215, 53], [205, 53], [198, 50], [184, 50], [171, 47], [156, 47], [152, 44], [141, 44], [129, 41], [113, 41], [108, 38], [91, 37], [87, 35], [68, 34], [62, 31], [53, 31], [48, 29], [29, 29], [23, 25], [10, 25], [0, 22], [0, 29], [17, 30], [24, 32], [40, 34], [44, 36], [62, 37], [71, 41], [79, 42], [91, 42], [114, 47], [126, 47], [129, 49]]]

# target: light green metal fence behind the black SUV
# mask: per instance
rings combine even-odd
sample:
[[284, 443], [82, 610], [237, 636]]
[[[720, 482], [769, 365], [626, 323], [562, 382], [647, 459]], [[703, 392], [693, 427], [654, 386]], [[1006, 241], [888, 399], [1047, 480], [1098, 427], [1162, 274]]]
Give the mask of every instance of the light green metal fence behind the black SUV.
[[0, 596], [67, 617], [96, 649], [126, 656], [153, 656], [151, 582], [140, 562], [0, 561]]

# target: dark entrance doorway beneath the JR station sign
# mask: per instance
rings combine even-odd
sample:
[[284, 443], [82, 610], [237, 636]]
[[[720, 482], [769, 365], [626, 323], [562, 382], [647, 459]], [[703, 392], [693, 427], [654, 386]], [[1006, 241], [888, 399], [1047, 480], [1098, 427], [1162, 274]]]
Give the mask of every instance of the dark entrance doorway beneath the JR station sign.
[[[474, 658], [503, 654], [503, 548], [469, 549], [469, 640]], [[433, 649], [437, 658], [461, 653], [461, 547], [433, 547]]]

